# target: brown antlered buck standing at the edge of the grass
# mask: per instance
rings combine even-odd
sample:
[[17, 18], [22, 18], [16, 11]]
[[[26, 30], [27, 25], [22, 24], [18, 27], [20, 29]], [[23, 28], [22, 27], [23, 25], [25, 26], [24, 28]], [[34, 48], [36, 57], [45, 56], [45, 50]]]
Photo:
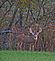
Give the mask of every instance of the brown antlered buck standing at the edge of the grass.
[[[37, 25], [38, 26], [38, 25]], [[22, 48], [24, 48], [25, 50], [25, 45], [28, 44], [29, 45], [29, 50], [35, 50], [35, 45], [36, 45], [36, 42], [37, 42], [37, 39], [38, 39], [38, 35], [42, 32], [42, 28], [39, 27], [39, 31], [37, 32], [33, 32], [32, 28], [29, 27], [29, 33], [31, 34], [30, 36], [29, 35], [20, 35], [19, 38], [21, 39], [23, 37], [23, 40], [20, 40], [19, 42], [21, 43], [17, 43], [17, 47], [19, 46], [20, 47], [20, 50], [22, 50]], [[22, 45], [24, 45], [22, 47]]]

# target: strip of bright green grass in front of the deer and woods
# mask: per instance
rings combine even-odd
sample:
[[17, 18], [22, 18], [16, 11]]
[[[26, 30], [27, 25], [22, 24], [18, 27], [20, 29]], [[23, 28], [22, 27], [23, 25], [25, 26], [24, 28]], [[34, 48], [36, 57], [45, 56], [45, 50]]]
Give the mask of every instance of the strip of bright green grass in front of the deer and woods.
[[0, 61], [55, 61], [55, 53], [0, 51]]

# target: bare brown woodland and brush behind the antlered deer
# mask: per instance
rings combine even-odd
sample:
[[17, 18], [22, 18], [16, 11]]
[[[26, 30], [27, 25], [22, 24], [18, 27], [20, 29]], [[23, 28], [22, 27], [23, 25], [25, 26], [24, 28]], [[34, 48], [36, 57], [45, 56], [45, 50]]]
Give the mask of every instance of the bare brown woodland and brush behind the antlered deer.
[[36, 23], [42, 32], [35, 51], [55, 51], [55, 0], [0, 0], [0, 50], [20, 50], [22, 34], [28, 35], [28, 27]]

